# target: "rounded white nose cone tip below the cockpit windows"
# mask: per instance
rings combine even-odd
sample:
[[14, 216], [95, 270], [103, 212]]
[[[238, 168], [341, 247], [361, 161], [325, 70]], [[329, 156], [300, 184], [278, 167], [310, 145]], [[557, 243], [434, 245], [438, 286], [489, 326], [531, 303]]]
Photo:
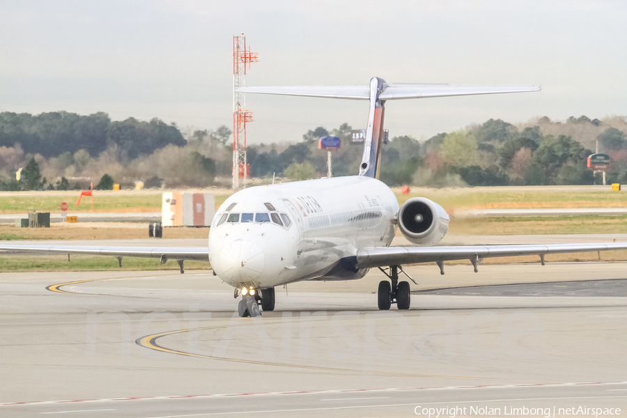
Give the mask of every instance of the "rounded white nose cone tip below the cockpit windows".
[[220, 269], [224, 278], [247, 283], [253, 281], [265, 268], [265, 255], [258, 245], [248, 241], [233, 241], [220, 253]]

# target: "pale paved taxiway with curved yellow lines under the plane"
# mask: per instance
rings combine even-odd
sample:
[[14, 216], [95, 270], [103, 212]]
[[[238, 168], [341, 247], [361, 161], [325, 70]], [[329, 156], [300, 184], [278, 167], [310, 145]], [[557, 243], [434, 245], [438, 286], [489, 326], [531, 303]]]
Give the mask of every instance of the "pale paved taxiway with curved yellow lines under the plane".
[[414, 290], [474, 288], [409, 311], [378, 311], [372, 272], [277, 288], [261, 318], [208, 271], [0, 274], [0, 417], [624, 415], [626, 267], [412, 267]]

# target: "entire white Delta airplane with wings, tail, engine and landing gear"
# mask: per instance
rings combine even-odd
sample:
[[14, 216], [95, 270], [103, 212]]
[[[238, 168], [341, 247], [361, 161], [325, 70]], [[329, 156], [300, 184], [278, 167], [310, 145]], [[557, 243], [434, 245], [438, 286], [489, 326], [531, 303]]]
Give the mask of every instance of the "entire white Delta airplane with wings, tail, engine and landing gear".
[[[564, 245], [436, 246], [447, 233], [449, 215], [442, 206], [416, 197], [399, 208], [396, 196], [378, 180], [384, 105], [387, 100], [454, 95], [539, 91], [536, 86], [456, 86], [387, 84], [374, 77], [369, 86], [247, 87], [244, 93], [301, 95], [369, 100], [364, 155], [358, 176], [321, 178], [251, 187], [219, 207], [208, 247], [94, 247], [0, 245], [0, 251], [27, 254], [91, 254], [211, 263], [213, 275], [235, 288], [240, 316], [274, 310], [274, 287], [303, 280], [360, 279], [380, 268], [389, 281], [378, 286], [378, 308], [410, 308], [410, 285], [398, 281], [402, 265], [486, 257], [627, 249], [627, 243]], [[390, 247], [396, 229], [415, 246]], [[411, 279], [411, 278], [410, 278]]]

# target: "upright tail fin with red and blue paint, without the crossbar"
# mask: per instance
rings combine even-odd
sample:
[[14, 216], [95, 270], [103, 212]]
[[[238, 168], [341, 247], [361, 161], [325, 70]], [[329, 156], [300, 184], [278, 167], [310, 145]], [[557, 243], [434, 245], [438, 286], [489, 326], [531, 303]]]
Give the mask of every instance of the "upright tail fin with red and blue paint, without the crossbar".
[[364, 141], [364, 155], [359, 165], [359, 176], [379, 178], [381, 160], [381, 141], [383, 139], [383, 114], [385, 100], [379, 95], [387, 88], [385, 80], [373, 77], [370, 80], [370, 112]]

